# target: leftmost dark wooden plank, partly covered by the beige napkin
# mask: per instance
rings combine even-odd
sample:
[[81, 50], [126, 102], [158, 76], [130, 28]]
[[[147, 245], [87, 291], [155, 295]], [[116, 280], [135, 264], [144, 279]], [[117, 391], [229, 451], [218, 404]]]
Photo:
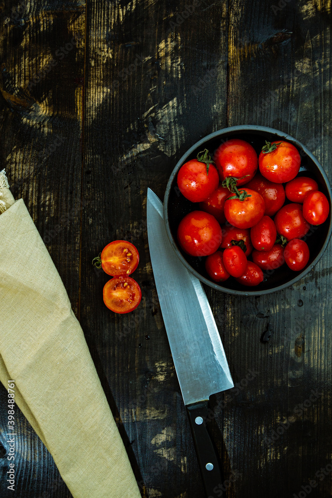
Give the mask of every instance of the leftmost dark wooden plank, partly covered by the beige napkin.
[[[77, 311], [85, 4], [7, 1], [1, 21], [1, 169], [14, 197], [23, 198]], [[6, 397], [1, 385], [3, 498], [12, 496], [5, 478]], [[15, 496], [70, 497], [52, 457], [18, 409], [15, 417]]]

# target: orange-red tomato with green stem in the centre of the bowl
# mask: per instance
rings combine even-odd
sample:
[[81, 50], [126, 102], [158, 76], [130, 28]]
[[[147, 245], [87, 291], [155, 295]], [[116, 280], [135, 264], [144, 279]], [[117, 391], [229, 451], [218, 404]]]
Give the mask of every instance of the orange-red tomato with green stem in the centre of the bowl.
[[262, 196], [251, 189], [240, 189], [240, 193], [246, 192], [248, 197], [230, 199], [225, 201], [224, 214], [226, 220], [237, 228], [251, 228], [256, 225], [264, 216], [265, 204]]

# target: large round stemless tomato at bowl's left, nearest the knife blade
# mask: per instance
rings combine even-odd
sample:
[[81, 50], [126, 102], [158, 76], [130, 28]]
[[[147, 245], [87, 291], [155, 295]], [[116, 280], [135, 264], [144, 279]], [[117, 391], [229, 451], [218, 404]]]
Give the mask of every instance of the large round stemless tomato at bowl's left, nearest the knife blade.
[[180, 222], [178, 241], [192, 256], [208, 256], [219, 248], [221, 228], [216, 218], [204, 211], [188, 213]]

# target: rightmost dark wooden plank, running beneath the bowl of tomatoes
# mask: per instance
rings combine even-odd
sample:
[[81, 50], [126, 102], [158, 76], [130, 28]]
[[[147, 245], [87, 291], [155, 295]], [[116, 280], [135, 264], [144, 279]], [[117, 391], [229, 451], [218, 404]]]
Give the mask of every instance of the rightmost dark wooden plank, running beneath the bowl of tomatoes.
[[[231, 5], [228, 124], [287, 131], [307, 144], [330, 173], [331, 5], [290, 1], [275, 7], [260, 1], [245, 9], [240, 1]], [[322, 482], [316, 474], [331, 463], [331, 354], [325, 325], [331, 320], [330, 269], [331, 246], [293, 287], [226, 299], [231, 316], [225, 313], [225, 349], [235, 380], [244, 378], [248, 368], [260, 373], [224, 411], [230, 466], [242, 473], [232, 497], [299, 496], [310, 480], [317, 481], [315, 496], [331, 494], [331, 474]], [[262, 344], [268, 323], [273, 334]], [[312, 389], [322, 395], [307, 402]], [[304, 402], [307, 408], [301, 408]]]

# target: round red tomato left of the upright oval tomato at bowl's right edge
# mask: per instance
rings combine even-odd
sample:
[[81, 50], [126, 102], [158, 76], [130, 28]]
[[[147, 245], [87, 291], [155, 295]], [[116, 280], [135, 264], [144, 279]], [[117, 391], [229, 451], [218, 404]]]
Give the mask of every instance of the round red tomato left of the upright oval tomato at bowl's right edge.
[[286, 237], [287, 241], [301, 239], [309, 229], [308, 223], [302, 212], [302, 204], [286, 204], [274, 217], [277, 232]]

